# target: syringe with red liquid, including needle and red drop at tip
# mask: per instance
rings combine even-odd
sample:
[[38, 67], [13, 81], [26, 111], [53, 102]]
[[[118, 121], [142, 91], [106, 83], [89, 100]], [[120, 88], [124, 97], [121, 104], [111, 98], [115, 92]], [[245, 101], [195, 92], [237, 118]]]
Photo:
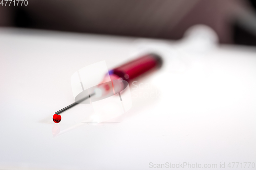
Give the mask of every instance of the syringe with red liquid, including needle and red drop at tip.
[[110, 82], [105, 82], [103, 80], [102, 82], [105, 83], [101, 83], [96, 87], [84, 90], [78, 94], [75, 100], [76, 102], [55, 112], [53, 115], [53, 122], [59, 123], [61, 120], [60, 114], [71, 107], [92, 97], [96, 100], [100, 100], [117, 94], [122, 91], [127, 86], [128, 82], [131, 82], [131, 80], [144, 75], [146, 72], [153, 69], [160, 68], [161, 66], [161, 57], [156, 54], [147, 54], [110, 70], [108, 74], [108, 77], [111, 79]]

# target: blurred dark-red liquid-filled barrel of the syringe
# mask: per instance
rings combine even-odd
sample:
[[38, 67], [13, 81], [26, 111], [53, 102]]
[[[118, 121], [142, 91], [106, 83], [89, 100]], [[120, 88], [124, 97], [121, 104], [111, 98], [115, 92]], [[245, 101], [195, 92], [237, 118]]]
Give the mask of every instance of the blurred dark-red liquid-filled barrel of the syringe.
[[146, 72], [159, 68], [162, 65], [162, 59], [156, 54], [147, 54], [125, 63], [109, 71], [110, 76], [115, 75], [129, 82]]

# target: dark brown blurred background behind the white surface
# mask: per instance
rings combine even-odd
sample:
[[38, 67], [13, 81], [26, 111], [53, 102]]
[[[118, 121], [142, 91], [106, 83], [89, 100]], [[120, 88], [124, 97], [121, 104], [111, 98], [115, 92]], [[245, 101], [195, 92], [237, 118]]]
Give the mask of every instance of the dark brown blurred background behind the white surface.
[[203, 24], [220, 43], [256, 45], [255, 10], [253, 0], [33, 0], [0, 6], [0, 26], [177, 40]]

